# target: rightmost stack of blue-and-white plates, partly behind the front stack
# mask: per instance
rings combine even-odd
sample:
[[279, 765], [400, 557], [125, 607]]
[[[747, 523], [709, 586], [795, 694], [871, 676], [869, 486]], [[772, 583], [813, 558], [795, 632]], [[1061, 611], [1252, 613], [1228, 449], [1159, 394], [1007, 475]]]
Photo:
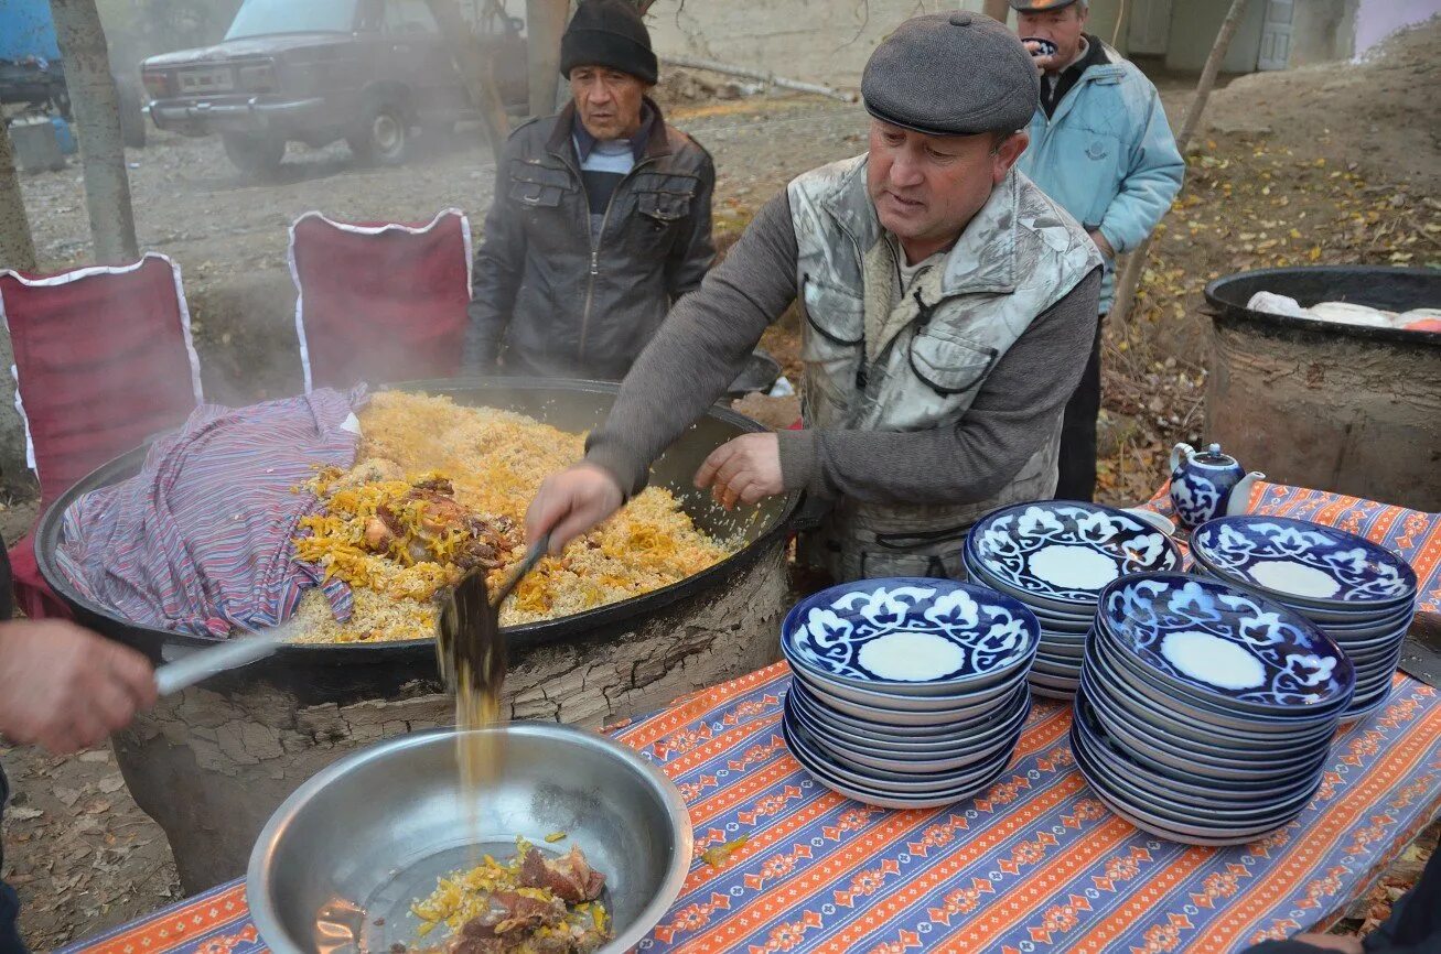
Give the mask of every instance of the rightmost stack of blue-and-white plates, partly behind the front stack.
[[1356, 666], [1344, 718], [1386, 702], [1417, 609], [1417, 573], [1365, 537], [1282, 517], [1222, 517], [1190, 538], [1196, 571], [1316, 623]]

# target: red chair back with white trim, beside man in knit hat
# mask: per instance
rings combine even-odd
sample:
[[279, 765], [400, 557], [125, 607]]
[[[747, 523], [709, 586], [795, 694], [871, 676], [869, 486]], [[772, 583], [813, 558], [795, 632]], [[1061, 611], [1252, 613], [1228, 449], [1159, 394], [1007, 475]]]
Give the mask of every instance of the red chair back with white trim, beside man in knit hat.
[[352, 224], [310, 212], [291, 226], [305, 391], [452, 377], [470, 304], [470, 224]]

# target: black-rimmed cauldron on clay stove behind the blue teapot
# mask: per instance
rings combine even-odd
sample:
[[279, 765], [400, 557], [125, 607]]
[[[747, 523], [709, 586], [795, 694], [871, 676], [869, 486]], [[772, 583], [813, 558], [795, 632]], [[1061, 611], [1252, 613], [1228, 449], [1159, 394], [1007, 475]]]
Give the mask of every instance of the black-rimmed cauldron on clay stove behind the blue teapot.
[[1271, 481], [1441, 509], [1441, 334], [1251, 311], [1261, 291], [1303, 306], [1441, 308], [1441, 272], [1301, 266], [1206, 286], [1212, 440]]

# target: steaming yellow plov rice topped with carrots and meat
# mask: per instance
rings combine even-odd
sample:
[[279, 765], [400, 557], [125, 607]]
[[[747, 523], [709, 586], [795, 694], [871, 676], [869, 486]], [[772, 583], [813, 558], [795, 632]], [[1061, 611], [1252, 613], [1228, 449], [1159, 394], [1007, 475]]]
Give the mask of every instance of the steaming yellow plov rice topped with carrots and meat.
[[[317, 473], [321, 512], [301, 521], [300, 560], [350, 584], [337, 623], [316, 589], [301, 601], [304, 642], [431, 639], [431, 597], [470, 565], [494, 584], [523, 555], [525, 511], [585, 436], [533, 417], [383, 391], [360, 417], [359, 463]], [[669, 586], [729, 550], [699, 531], [674, 495], [647, 488], [601, 527], [546, 557], [500, 612], [503, 626], [555, 619]]]

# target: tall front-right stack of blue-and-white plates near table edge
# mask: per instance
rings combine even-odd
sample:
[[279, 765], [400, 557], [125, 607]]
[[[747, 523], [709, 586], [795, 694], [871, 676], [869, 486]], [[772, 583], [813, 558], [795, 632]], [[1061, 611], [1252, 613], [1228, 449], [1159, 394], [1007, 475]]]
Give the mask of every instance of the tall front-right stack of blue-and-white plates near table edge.
[[1101, 594], [1071, 747], [1097, 796], [1161, 837], [1238, 845], [1321, 783], [1356, 672], [1285, 607], [1176, 573]]

